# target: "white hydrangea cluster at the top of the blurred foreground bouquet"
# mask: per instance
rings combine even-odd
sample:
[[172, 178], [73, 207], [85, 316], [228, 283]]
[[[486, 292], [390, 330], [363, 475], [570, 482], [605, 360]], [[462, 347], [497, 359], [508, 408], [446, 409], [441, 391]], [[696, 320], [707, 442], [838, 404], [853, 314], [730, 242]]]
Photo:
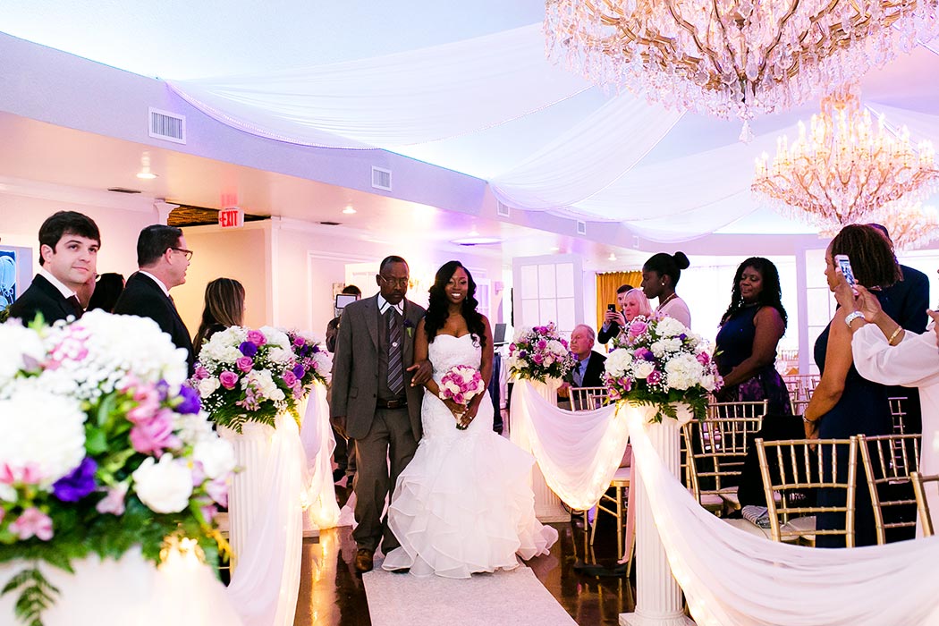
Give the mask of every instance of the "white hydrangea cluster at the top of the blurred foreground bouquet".
[[82, 399], [110, 393], [131, 372], [137, 380], [164, 380], [173, 389], [188, 373], [186, 350], [146, 317], [90, 311], [69, 326], [51, 328], [44, 344], [53, 365], [39, 376], [43, 385]]

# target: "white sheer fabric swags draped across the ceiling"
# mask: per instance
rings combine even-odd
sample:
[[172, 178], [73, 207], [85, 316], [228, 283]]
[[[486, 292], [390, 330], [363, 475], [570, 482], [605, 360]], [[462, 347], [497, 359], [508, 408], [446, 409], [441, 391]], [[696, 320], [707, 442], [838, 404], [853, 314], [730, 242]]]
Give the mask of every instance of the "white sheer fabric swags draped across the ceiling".
[[[934, 67], [936, 55], [921, 48], [906, 63], [903, 71], [918, 75]], [[910, 109], [892, 105], [904, 97], [883, 72], [870, 84], [870, 93], [862, 96], [891, 126], [907, 124], [915, 140], [939, 140], [939, 115], [916, 111], [931, 102], [922, 84], [907, 86]], [[300, 145], [379, 147], [403, 154], [410, 146], [419, 150], [419, 159], [421, 150], [441, 154], [449, 145], [475, 150], [478, 160], [485, 160], [485, 154], [500, 154], [504, 142], [513, 141], [500, 142], [494, 130], [517, 138], [533, 120], [560, 119], [560, 125], [526, 130], [528, 156], [519, 153], [484, 168], [497, 198], [519, 209], [622, 222], [660, 242], [701, 237], [753, 212], [754, 159], [775, 152], [777, 136], [794, 137], [796, 117], [810, 115], [791, 112], [764, 124], [775, 128], [747, 145], [727, 137], [727, 145], [713, 147], [713, 141], [696, 144], [695, 137], [691, 143], [699, 147], [683, 153], [670, 142], [669, 150], [654, 155], [654, 164], [643, 165], [670, 132], [700, 134], [714, 126], [700, 120], [685, 125], [681, 114], [628, 92], [606, 101], [595, 98], [595, 88], [546, 61], [540, 23], [408, 53], [170, 85], [240, 130]], [[584, 115], [545, 115], [563, 111], [577, 94], [590, 102]], [[546, 134], [538, 135], [539, 130]], [[461, 141], [470, 137], [473, 141]]]

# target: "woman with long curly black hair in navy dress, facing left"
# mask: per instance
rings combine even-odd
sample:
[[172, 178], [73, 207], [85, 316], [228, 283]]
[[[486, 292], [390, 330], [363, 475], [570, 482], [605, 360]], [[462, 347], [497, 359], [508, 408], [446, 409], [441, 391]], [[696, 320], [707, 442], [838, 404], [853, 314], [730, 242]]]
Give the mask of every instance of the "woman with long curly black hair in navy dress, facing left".
[[737, 267], [731, 305], [717, 332], [715, 361], [724, 378], [717, 400], [768, 400], [768, 415], [792, 415], [789, 390], [776, 369], [787, 321], [776, 266], [751, 256]]

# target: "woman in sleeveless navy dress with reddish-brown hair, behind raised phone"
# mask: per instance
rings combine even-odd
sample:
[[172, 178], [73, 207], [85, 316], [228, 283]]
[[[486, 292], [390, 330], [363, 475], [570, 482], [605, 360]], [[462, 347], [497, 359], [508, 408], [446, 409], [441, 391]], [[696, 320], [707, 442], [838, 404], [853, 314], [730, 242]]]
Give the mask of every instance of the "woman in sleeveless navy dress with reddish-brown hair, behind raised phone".
[[[900, 276], [900, 266], [886, 239], [870, 226], [852, 224], [841, 229], [825, 251], [825, 277], [834, 292], [841, 281], [835, 257], [845, 254], [850, 259], [857, 282], [869, 289], [888, 287]], [[851, 325], [861, 318], [853, 308], [840, 307], [815, 342], [815, 363], [822, 377], [806, 407], [806, 436], [809, 438], [847, 439], [852, 435], [887, 435], [893, 431], [887, 389], [858, 374], [851, 349]], [[831, 466], [830, 449], [825, 449], [824, 465]], [[847, 454], [839, 454], [839, 479], [848, 472]], [[857, 481], [854, 513], [855, 545], [876, 542], [873, 510], [867, 481]], [[819, 504], [844, 506], [841, 490], [821, 489]], [[844, 527], [843, 513], [820, 513], [816, 519], [820, 530]], [[819, 547], [844, 547], [840, 536], [818, 535]]]

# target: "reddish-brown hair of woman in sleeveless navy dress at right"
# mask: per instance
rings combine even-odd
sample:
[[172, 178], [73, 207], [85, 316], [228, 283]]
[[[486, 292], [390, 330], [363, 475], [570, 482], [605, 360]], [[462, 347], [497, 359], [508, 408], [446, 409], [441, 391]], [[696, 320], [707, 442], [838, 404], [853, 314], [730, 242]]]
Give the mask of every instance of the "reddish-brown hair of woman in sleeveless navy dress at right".
[[867, 224], [845, 226], [828, 248], [832, 258], [837, 254], [847, 254], [854, 278], [869, 289], [889, 287], [903, 276], [890, 242]]

